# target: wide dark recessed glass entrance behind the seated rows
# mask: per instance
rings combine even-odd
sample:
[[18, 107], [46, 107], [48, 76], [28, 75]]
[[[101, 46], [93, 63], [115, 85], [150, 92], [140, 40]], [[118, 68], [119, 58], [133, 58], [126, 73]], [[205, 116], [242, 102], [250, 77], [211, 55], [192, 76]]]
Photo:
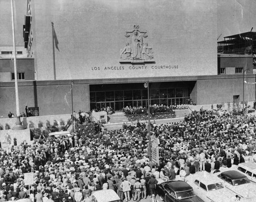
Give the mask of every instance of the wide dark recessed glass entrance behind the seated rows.
[[[190, 86], [195, 82], [156, 82], [150, 84], [150, 104], [188, 104]], [[95, 84], [90, 85], [90, 109], [112, 107], [122, 111], [128, 107], [147, 107], [147, 89], [143, 83]]]

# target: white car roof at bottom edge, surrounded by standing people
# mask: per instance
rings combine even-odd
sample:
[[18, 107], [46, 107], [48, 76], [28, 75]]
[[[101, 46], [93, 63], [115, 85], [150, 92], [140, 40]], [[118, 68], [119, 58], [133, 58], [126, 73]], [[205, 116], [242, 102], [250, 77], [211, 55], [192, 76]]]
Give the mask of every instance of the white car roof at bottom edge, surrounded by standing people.
[[110, 202], [120, 200], [119, 196], [113, 189], [103, 189], [95, 191], [92, 195], [97, 199], [97, 202]]

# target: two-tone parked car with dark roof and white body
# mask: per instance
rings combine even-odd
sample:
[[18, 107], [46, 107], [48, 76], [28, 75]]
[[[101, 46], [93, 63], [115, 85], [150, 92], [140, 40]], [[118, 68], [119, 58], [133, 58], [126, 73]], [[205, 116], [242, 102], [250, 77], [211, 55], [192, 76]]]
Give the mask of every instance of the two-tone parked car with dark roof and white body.
[[[234, 192], [241, 198], [253, 199], [256, 198], [256, 184], [252, 183], [248, 177], [239, 171], [229, 170], [221, 173], [216, 173], [224, 182], [224, 186]], [[250, 200], [251, 201], [251, 200]]]

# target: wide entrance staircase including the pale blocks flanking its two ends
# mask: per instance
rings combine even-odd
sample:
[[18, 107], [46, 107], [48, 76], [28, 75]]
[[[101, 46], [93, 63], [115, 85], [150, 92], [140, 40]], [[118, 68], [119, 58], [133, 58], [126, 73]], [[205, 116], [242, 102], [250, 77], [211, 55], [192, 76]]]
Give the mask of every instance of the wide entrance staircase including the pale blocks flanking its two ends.
[[[166, 123], [177, 123], [180, 121], [184, 121], [184, 117], [190, 113], [189, 109], [178, 109], [175, 111], [176, 118], [172, 119], [156, 119], [151, 120], [151, 123], [155, 121], [156, 124], [166, 124]], [[144, 123], [146, 121], [140, 121]], [[137, 122], [130, 122], [126, 118], [123, 112], [118, 112], [113, 115], [108, 115], [108, 124], [104, 124], [105, 130], [118, 130], [122, 128], [122, 124], [126, 123], [127, 125], [136, 124]]]

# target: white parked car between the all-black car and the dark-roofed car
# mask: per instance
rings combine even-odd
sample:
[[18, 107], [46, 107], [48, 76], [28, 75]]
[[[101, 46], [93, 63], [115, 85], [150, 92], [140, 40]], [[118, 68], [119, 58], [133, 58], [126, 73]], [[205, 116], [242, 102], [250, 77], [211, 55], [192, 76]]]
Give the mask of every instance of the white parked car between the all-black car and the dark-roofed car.
[[239, 196], [236, 197], [234, 192], [223, 185], [219, 177], [206, 171], [190, 174], [186, 179], [195, 194], [206, 202], [231, 202], [239, 199]]

